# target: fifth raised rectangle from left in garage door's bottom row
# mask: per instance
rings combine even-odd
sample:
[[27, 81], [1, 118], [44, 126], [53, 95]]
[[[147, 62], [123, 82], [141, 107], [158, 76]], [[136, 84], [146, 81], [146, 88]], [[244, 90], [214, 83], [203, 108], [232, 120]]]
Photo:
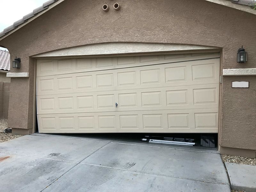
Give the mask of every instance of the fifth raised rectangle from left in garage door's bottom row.
[[138, 115], [120, 115], [121, 129], [139, 129]]

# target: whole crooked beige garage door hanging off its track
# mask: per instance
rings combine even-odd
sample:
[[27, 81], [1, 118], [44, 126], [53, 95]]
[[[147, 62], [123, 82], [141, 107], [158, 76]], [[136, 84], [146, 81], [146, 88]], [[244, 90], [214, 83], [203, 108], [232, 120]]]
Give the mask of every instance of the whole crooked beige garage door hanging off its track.
[[39, 132], [218, 132], [219, 53], [37, 60]]

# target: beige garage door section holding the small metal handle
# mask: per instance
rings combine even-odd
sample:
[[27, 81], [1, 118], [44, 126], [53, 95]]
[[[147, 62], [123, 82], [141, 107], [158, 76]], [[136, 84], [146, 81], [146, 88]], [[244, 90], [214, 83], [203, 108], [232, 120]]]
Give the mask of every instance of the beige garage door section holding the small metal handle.
[[[219, 84], [37, 96], [38, 114], [218, 108]], [[118, 103], [116, 108], [115, 103]]]

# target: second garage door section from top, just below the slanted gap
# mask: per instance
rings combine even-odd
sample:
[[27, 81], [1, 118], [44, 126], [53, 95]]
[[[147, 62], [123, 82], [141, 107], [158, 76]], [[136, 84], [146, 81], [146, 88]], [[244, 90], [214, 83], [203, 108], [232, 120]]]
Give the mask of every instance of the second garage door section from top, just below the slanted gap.
[[[194, 74], [192, 65], [196, 66]], [[202, 71], [204, 65], [215, 65], [214, 71]], [[37, 77], [37, 95], [213, 84], [219, 83], [219, 70], [219, 59], [213, 59], [44, 76]]]

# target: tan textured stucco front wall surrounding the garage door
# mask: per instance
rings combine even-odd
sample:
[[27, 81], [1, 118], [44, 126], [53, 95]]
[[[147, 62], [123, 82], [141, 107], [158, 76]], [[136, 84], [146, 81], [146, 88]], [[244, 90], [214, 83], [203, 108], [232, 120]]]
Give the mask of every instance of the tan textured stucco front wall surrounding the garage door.
[[[255, 68], [256, 15], [204, 0], [120, 0], [119, 11], [102, 11], [113, 1], [65, 0], [0, 41], [11, 60], [21, 58], [29, 78], [12, 78], [8, 126], [33, 131], [35, 117], [35, 60], [31, 56], [87, 44], [142, 42], [218, 47], [221, 68]], [[248, 62], [236, 63], [237, 49], [244, 45]], [[250, 81], [250, 88], [231, 88], [232, 81]], [[256, 150], [256, 78], [224, 76], [220, 90], [222, 148]], [[238, 150], [241, 151], [241, 150]], [[239, 152], [237, 153], [239, 154]], [[247, 153], [249, 154], [249, 153]]]

